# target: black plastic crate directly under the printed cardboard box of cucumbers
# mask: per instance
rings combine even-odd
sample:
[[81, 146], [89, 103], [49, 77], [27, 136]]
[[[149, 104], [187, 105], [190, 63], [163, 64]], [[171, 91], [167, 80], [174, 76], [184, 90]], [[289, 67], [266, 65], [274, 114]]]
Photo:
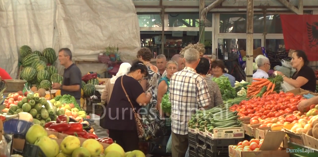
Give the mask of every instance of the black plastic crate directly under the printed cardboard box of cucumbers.
[[212, 139], [207, 137], [205, 141], [206, 149], [213, 153], [226, 152], [228, 156], [228, 145], [236, 145], [238, 142], [243, 141], [243, 138], [237, 139]]

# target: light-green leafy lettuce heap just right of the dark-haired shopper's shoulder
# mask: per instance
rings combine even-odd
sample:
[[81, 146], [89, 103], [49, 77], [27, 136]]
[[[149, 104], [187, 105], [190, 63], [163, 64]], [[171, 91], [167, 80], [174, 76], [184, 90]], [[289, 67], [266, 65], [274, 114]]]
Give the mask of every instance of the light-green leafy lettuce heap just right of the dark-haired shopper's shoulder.
[[223, 101], [235, 98], [237, 96], [236, 90], [231, 86], [227, 76], [222, 75], [220, 77], [212, 77], [212, 81], [219, 86]]

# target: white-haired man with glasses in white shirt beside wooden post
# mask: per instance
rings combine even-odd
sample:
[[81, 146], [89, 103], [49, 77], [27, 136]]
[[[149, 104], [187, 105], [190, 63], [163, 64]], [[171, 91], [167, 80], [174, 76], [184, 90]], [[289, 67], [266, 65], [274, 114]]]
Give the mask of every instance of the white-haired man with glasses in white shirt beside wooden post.
[[[268, 71], [271, 68], [269, 59], [267, 57], [260, 57], [257, 60], [257, 71], [253, 74], [253, 78], [268, 78]], [[255, 81], [255, 80], [253, 80]]]

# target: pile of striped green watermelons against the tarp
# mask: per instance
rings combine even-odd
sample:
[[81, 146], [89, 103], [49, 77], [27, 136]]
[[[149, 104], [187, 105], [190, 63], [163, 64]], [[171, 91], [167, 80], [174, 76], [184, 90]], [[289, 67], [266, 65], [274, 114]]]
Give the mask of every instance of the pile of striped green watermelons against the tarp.
[[34, 51], [24, 45], [20, 48], [20, 61], [23, 70], [20, 71], [20, 79], [36, 84], [37, 88], [48, 90], [53, 83], [60, 83], [63, 77], [57, 74], [54, 64], [57, 59], [56, 53], [52, 48], [46, 48], [42, 52]]

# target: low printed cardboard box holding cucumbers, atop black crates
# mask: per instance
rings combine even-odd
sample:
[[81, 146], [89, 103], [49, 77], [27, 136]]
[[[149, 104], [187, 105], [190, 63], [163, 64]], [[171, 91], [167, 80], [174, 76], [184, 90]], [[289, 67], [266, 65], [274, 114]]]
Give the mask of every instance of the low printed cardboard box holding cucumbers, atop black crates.
[[205, 135], [212, 139], [244, 138], [244, 127], [214, 128], [213, 133], [205, 130]]

